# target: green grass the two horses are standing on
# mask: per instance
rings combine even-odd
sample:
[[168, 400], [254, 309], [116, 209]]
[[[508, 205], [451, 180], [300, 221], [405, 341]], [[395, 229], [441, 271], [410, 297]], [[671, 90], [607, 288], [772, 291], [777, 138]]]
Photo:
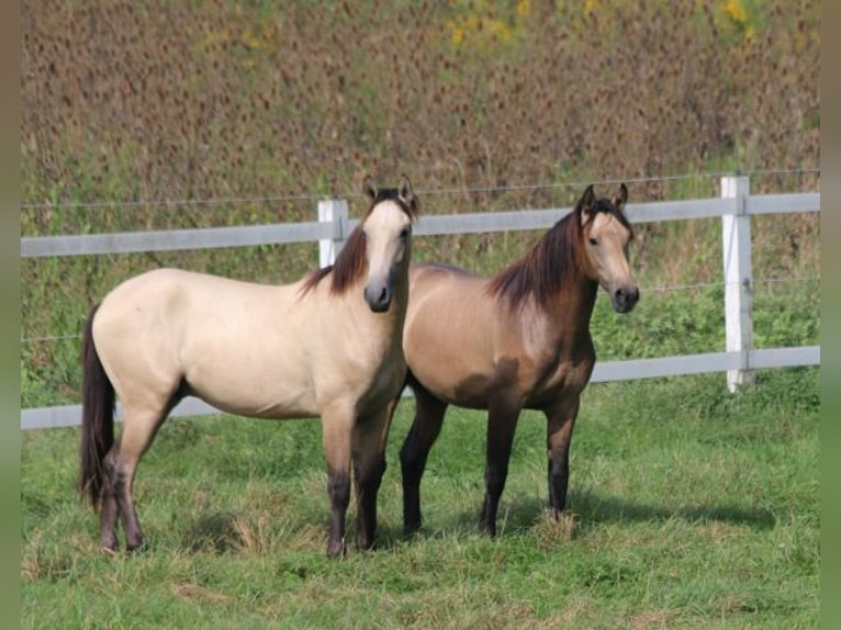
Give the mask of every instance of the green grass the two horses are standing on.
[[[23, 628], [814, 628], [817, 369], [591, 385], [570, 507], [546, 518], [545, 421], [518, 426], [500, 536], [476, 532], [484, 416], [451, 409], [401, 535], [389, 442], [379, 549], [325, 556], [317, 421], [169, 420], [141, 464], [147, 548], [110, 556], [74, 493], [77, 431], [23, 435]], [[352, 540], [351, 521], [348, 538]]]

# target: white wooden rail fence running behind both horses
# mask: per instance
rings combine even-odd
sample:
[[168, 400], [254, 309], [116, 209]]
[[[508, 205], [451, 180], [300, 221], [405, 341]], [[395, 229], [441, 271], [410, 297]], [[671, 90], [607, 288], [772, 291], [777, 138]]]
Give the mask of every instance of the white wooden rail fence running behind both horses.
[[[416, 236], [467, 234], [524, 229], [546, 229], [572, 209], [429, 215], [418, 220]], [[635, 359], [596, 363], [592, 382], [650, 379], [704, 372], [727, 372], [732, 392], [752, 382], [754, 370], [795, 365], [819, 365], [820, 346], [797, 348], [753, 348], [751, 273], [751, 223], [758, 214], [820, 212], [820, 193], [751, 195], [747, 177], [721, 178], [720, 199], [629, 203], [631, 223], [721, 217], [725, 282], [726, 351], [655, 359]], [[21, 238], [21, 257], [127, 254], [214, 247], [242, 247], [278, 243], [318, 241], [322, 266], [333, 262], [354, 229], [357, 220], [348, 217], [344, 200], [318, 203], [318, 221], [296, 224], [255, 225], [204, 229], [178, 229], [81, 236]], [[220, 413], [198, 398], [186, 398], [172, 416]], [[120, 409], [117, 406], [117, 415]], [[76, 426], [81, 405], [60, 405], [21, 409], [21, 429]]]

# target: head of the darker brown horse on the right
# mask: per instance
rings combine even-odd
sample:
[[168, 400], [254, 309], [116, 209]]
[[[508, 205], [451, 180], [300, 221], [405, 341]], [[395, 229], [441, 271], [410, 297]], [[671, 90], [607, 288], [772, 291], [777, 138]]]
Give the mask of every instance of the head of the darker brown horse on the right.
[[580, 216], [587, 275], [613, 300], [614, 310], [628, 313], [639, 300], [639, 288], [628, 261], [633, 230], [623, 209], [628, 189], [623, 183], [614, 199], [596, 199], [590, 185], [575, 205]]

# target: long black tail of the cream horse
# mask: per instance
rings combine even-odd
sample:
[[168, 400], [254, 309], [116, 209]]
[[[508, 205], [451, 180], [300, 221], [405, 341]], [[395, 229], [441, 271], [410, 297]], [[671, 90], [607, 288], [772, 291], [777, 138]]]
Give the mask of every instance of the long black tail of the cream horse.
[[99, 506], [105, 483], [104, 459], [114, 443], [114, 385], [105, 374], [93, 346], [92, 325], [98, 308], [99, 304], [91, 308], [81, 342], [82, 404], [79, 448], [79, 495], [83, 496], [87, 491], [94, 509]]

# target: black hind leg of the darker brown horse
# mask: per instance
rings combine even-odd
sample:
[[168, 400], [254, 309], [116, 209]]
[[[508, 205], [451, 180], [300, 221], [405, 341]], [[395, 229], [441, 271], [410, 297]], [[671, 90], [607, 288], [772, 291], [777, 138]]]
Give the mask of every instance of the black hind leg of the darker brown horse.
[[420, 529], [420, 477], [435, 440], [441, 432], [447, 403], [442, 403], [417, 384], [415, 419], [400, 449], [403, 476], [403, 531], [411, 535]]

